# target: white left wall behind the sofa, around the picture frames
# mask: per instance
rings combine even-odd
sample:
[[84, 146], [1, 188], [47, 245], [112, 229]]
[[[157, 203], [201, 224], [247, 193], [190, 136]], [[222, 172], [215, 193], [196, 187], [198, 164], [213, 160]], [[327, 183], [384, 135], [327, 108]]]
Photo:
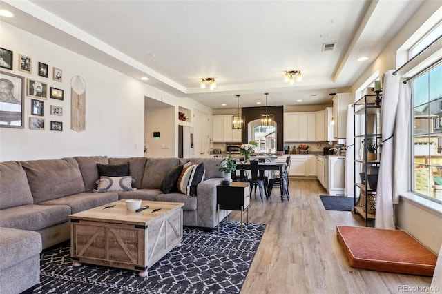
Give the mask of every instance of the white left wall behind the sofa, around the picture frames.
[[[142, 81], [123, 75], [55, 43], [41, 39], [0, 21], [1, 47], [14, 52], [12, 72], [64, 90], [64, 101], [44, 100], [45, 130], [30, 130], [31, 98], [24, 99], [23, 129], [0, 128], [0, 161], [55, 159], [77, 155], [131, 157], [144, 155], [144, 97], [172, 106], [198, 109], [211, 115], [211, 109], [187, 98], [177, 98]], [[18, 55], [32, 58], [32, 73], [18, 70]], [[37, 75], [38, 62], [49, 66], [49, 77]], [[52, 79], [52, 68], [63, 70], [63, 82]], [[79, 75], [86, 81], [86, 130], [70, 130], [70, 79]], [[50, 115], [50, 105], [63, 106], [64, 115]], [[50, 121], [62, 121], [63, 132], [51, 131]], [[175, 156], [177, 117], [170, 117], [166, 133], [170, 156]], [[164, 134], [166, 134], [164, 133]], [[176, 138], [176, 139], [175, 139]], [[169, 155], [169, 153], [168, 153]]]

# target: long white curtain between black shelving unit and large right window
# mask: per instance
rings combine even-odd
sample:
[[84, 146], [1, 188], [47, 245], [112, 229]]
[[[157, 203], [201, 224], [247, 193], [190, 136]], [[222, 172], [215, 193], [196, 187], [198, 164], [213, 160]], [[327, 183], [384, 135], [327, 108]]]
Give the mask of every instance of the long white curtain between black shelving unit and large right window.
[[[399, 77], [393, 75], [394, 70], [385, 72], [383, 76], [383, 97], [381, 109], [382, 153], [379, 168], [378, 188], [376, 197], [376, 228], [395, 229], [393, 208], [393, 157], [394, 157], [394, 124], [399, 99]], [[404, 126], [405, 127], [405, 126]], [[405, 144], [404, 144], [405, 145]]]

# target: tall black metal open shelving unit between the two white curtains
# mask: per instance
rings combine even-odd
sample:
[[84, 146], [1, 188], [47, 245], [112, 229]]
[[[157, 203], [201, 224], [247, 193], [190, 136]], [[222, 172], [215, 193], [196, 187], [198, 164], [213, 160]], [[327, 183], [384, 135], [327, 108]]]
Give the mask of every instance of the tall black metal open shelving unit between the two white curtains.
[[[376, 100], [377, 99], [377, 100]], [[358, 213], [365, 219], [365, 226], [368, 226], [369, 219], [374, 219], [376, 215], [369, 213], [369, 198], [376, 198], [376, 190], [373, 190], [367, 181], [367, 175], [371, 173], [372, 167], [379, 167], [380, 153], [376, 153], [375, 160], [367, 159], [367, 148], [365, 142], [374, 140], [376, 144], [381, 144], [381, 102], [382, 95], [365, 95], [354, 103], [354, 213]], [[360, 119], [357, 119], [360, 117]], [[360, 126], [359, 126], [360, 124]], [[356, 151], [356, 146], [360, 150]], [[364, 173], [361, 179], [360, 171]], [[361, 197], [365, 197], [365, 206], [361, 206]]]

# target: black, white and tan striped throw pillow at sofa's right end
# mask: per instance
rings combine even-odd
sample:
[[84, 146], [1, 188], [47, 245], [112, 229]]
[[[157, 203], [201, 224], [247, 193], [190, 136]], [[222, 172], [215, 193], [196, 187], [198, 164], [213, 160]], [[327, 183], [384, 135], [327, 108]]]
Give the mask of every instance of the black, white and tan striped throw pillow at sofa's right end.
[[196, 186], [204, 181], [204, 175], [204, 163], [197, 165], [188, 162], [184, 164], [178, 179], [178, 190], [183, 194], [196, 196]]

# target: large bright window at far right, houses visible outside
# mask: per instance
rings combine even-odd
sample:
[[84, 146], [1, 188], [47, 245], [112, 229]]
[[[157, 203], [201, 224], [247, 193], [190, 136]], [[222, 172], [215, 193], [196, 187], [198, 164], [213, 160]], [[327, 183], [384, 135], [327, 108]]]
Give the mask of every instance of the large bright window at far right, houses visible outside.
[[413, 191], [442, 202], [442, 63], [413, 79]]

